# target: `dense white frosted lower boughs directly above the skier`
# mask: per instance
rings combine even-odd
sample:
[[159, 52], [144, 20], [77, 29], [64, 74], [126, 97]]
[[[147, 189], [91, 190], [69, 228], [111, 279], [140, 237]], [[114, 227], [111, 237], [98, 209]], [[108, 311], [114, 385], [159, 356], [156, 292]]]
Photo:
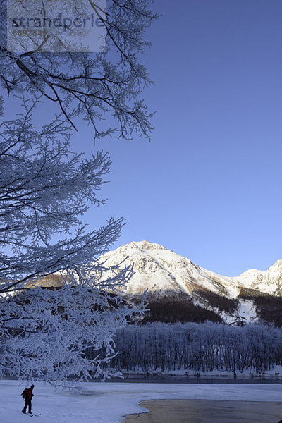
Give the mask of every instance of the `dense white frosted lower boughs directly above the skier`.
[[134, 312], [118, 295], [86, 284], [7, 296], [0, 302], [0, 378], [55, 383], [106, 377], [116, 331]]

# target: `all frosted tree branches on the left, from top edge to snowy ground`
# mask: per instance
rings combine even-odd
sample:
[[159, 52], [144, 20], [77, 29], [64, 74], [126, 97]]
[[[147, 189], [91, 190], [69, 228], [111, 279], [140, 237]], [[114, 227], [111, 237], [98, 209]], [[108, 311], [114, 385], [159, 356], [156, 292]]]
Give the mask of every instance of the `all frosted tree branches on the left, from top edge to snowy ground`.
[[[80, 3], [62, 1], [75, 11]], [[18, 53], [8, 49], [7, 2], [0, 1], [1, 87], [24, 107], [18, 118], [1, 123], [0, 376], [103, 374], [116, 329], [138, 311], [121, 300], [133, 270], [97, 261], [118, 239], [123, 219], [88, 232], [80, 221], [88, 207], [104, 204], [97, 194], [109, 155], [73, 154], [70, 137], [79, 116], [94, 128], [94, 139], [129, 139], [133, 131], [149, 137], [152, 114], [140, 94], [152, 81], [139, 56], [156, 15], [151, 1], [109, 0], [106, 10], [88, 3], [104, 27], [104, 51], [50, 52], [39, 45]], [[47, 3], [40, 4], [44, 11]], [[38, 102], [57, 107], [42, 128], [32, 121]], [[47, 277], [59, 277], [61, 287], [40, 288]]]

